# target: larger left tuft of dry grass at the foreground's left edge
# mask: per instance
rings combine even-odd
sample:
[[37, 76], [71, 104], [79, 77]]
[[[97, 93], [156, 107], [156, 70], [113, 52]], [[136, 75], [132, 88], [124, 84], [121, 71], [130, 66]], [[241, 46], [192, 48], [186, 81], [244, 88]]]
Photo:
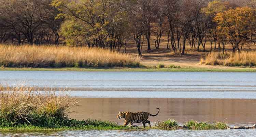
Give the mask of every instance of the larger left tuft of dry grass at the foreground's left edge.
[[33, 88], [0, 86], [1, 117], [18, 122], [28, 122], [32, 110], [40, 107], [41, 97]]

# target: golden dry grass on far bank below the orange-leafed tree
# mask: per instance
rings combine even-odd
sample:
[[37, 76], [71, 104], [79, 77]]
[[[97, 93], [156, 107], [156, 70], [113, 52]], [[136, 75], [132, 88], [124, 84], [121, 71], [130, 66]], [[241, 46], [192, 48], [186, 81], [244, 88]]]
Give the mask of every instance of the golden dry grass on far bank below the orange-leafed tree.
[[241, 53], [227, 52], [226, 54], [213, 52], [208, 54], [205, 59], [201, 59], [201, 64], [205, 65], [223, 65], [223, 66], [256, 66], [256, 52], [242, 51]]

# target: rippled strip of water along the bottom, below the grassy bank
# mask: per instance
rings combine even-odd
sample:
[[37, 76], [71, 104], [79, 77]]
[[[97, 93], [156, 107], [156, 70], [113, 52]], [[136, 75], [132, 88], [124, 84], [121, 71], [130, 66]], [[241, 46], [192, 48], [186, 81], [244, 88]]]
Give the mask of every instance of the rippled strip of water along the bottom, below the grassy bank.
[[149, 131], [59, 131], [59, 132], [28, 132], [28, 133], [1, 133], [0, 136], [77, 136], [77, 137], [85, 137], [85, 136], [98, 136], [98, 137], [147, 137], [147, 136], [256, 136], [255, 130], [209, 130], [209, 131], [191, 131], [191, 130], [176, 130], [176, 131], [160, 131], [160, 130], [149, 130]]

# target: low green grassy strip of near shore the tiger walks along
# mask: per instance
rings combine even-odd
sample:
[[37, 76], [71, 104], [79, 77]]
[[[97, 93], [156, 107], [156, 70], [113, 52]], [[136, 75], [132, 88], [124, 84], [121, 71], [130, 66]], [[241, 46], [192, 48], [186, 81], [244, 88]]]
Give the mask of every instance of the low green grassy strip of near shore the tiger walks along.
[[[176, 122], [174, 120], [167, 120], [161, 121], [157, 125], [153, 125], [152, 127], [142, 127], [142, 126], [123, 126], [123, 125], [84, 125], [84, 126], [61, 126], [61, 127], [41, 127], [41, 126], [34, 126], [34, 125], [17, 125], [15, 127], [0, 127], [0, 133], [5, 132], [20, 132], [20, 131], [148, 131], [148, 130], [196, 130], [196, 131], [206, 131], [206, 130], [256, 130], [256, 124], [252, 126], [244, 126], [244, 125], [237, 125], [230, 127], [227, 123], [223, 122], [215, 122], [215, 123], [208, 123], [208, 122], [196, 122], [194, 120], [190, 120], [184, 125], [172, 125], [173, 123], [168, 123], [168, 121]], [[103, 122], [103, 121], [102, 121]], [[103, 122], [104, 123], [104, 122]], [[114, 124], [114, 123], [113, 123]]]

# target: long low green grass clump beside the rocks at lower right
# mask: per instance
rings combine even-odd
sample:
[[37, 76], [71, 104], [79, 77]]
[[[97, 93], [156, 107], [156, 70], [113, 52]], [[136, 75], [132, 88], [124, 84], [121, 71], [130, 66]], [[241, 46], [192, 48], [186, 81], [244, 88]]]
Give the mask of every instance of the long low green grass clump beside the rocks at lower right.
[[184, 125], [184, 127], [189, 130], [224, 130], [227, 129], [227, 124], [223, 122], [210, 124], [207, 122], [190, 120]]

